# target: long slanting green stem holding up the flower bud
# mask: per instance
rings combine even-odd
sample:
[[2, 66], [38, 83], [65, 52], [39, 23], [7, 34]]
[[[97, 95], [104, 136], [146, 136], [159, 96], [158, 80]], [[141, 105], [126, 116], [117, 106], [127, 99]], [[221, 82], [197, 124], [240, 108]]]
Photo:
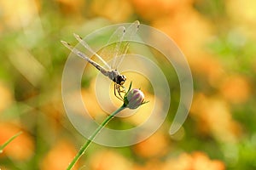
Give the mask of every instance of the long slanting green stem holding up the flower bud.
[[125, 109], [125, 105], [122, 105], [121, 107], [119, 107], [118, 110], [113, 111], [113, 113], [111, 115], [109, 115], [103, 122], [102, 124], [96, 128], [96, 131], [94, 131], [94, 133], [91, 134], [91, 136], [89, 137], [89, 139], [87, 140], [87, 142], [81, 147], [81, 149], [79, 150], [78, 154], [73, 158], [73, 161], [71, 161], [71, 163], [69, 164], [69, 166], [67, 167], [67, 170], [70, 170], [73, 168], [74, 164], [79, 161], [79, 158], [84, 155], [85, 150], [89, 147], [91, 141], [93, 139], [96, 138], [96, 135], [98, 133], [100, 133], [100, 131], [102, 130], [103, 127], [105, 127], [108, 122], [113, 118], [113, 116], [115, 116], [116, 114], [118, 114], [120, 111]]

